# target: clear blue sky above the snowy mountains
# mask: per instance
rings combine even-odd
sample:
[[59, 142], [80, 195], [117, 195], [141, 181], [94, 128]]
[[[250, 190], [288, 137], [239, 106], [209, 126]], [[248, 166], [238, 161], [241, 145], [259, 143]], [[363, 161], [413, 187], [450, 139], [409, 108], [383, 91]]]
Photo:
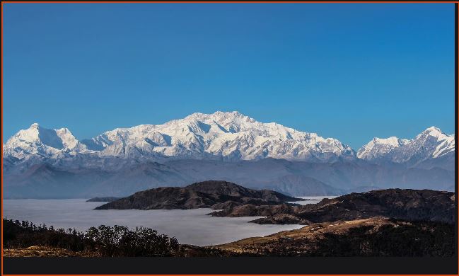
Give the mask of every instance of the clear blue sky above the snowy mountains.
[[454, 132], [453, 4], [4, 4], [4, 141], [238, 110], [335, 137]]

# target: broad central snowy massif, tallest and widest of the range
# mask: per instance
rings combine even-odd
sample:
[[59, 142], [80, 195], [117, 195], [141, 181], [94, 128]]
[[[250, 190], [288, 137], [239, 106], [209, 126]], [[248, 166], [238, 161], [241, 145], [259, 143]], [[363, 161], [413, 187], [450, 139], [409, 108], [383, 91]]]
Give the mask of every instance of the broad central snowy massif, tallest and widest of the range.
[[324, 139], [276, 123], [257, 122], [237, 111], [193, 113], [163, 125], [105, 132], [84, 143], [88, 149], [99, 149], [101, 154], [141, 158], [252, 160], [272, 157], [329, 161], [341, 155], [354, 155], [349, 146], [336, 139]]

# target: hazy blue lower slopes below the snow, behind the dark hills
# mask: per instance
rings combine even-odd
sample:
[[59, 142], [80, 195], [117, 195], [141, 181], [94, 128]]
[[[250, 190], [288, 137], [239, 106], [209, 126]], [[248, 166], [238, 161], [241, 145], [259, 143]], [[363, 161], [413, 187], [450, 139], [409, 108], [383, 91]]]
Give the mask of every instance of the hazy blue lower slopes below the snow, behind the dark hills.
[[397, 163], [174, 160], [126, 165], [117, 171], [34, 165], [21, 173], [4, 175], [4, 197], [122, 197], [140, 190], [204, 180], [226, 180], [247, 188], [298, 196], [340, 195], [379, 188], [454, 189], [453, 171], [406, 168]]

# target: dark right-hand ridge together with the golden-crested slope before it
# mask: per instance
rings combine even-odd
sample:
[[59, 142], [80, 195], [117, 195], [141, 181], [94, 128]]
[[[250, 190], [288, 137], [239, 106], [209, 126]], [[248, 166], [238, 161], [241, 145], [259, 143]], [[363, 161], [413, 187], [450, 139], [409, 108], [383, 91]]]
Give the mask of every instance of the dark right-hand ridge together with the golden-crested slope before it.
[[308, 226], [212, 248], [243, 255], [452, 256], [454, 201], [453, 192], [388, 189], [303, 206], [237, 206], [213, 215], [258, 215], [265, 218], [252, 222]]

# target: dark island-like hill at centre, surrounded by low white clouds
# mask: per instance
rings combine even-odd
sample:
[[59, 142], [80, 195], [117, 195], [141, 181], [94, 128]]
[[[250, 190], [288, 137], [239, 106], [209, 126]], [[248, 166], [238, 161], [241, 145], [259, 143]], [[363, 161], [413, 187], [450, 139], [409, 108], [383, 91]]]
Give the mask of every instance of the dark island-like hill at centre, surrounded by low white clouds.
[[136, 192], [95, 209], [232, 209], [240, 205], [279, 205], [300, 201], [272, 190], [252, 190], [226, 181], [204, 181], [186, 187]]

